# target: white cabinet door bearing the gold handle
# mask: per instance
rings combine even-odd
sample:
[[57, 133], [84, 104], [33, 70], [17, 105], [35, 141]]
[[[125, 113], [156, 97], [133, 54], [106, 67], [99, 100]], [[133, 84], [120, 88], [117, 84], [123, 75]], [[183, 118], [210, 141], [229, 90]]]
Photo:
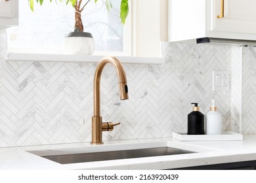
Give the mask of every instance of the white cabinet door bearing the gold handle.
[[[224, 1], [224, 17], [221, 3]], [[256, 33], [255, 0], [211, 0], [211, 30], [230, 33]]]

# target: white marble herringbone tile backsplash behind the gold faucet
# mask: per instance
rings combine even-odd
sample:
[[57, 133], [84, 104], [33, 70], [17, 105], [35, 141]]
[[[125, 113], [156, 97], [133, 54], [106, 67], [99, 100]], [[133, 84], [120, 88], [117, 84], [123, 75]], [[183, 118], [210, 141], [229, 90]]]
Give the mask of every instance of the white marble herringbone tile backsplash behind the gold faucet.
[[[0, 41], [0, 147], [91, 141], [96, 63], [6, 62], [5, 34]], [[231, 117], [236, 97], [212, 92], [212, 71], [231, 73], [231, 46], [163, 42], [162, 56], [166, 61], [161, 65], [123, 65], [127, 101], [119, 100], [114, 68], [104, 69], [101, 114], [104, 121], [121, 122], [114, 131], [104, 132], [104, 141], [185, 132], [190, 103], [198, 102], [206, 114], [212, 98], [223, 114], [223, 130], [240, 130], [239, 112]]]

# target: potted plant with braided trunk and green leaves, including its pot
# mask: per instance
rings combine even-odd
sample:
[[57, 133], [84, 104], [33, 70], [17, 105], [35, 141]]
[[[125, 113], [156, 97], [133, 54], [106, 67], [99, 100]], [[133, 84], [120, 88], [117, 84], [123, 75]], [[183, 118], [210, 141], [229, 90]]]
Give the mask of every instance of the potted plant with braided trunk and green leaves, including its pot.
[[[49, 0], [52, 1], [52, 0]], [[63, 0], [59, 0], [63, 1]], [[85, 9], [86, 5], [91, 0], [65, 0], [66, 5], [72, 5], [75, 10], [75, 25], [74, 31], [70, 32], [64, 38], [63, 50], [65, 54], [93, 54], [95, 43], [93, 35], [83, 31], [83, 21], [81, 18], [81, 12]], [[95, 3], [98, 0], [94, 0]], [[33, 11], [34, 3], [43, 5], [43, 0], [28, 0], [31, 10]], [[106, 0], [106, 8], [110, 10], [112, 4], [110, 0]], [[125, 24], [125, 19], [129, 12], [128, 0], [121, 0], [120, 6], [120, 18], [122, 24]]]

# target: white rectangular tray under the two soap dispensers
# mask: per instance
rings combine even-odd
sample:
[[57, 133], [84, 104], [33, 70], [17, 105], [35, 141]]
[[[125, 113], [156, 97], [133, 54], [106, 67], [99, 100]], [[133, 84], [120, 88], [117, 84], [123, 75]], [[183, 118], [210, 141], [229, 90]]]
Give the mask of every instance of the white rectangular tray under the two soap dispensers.
[[187, 135], [186, 133], [173, 132], [173, 139], [179, 141], [242, 141], [243, 135], [232, 131], [223, 131], [221, 135]]

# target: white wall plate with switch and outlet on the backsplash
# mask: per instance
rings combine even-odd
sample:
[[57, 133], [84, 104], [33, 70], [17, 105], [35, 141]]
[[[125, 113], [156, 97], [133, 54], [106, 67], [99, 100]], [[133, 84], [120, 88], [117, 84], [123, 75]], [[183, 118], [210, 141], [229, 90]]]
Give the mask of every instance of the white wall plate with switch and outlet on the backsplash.
[[213, 91], [229, 91], [228, 71], [213, 71]]

